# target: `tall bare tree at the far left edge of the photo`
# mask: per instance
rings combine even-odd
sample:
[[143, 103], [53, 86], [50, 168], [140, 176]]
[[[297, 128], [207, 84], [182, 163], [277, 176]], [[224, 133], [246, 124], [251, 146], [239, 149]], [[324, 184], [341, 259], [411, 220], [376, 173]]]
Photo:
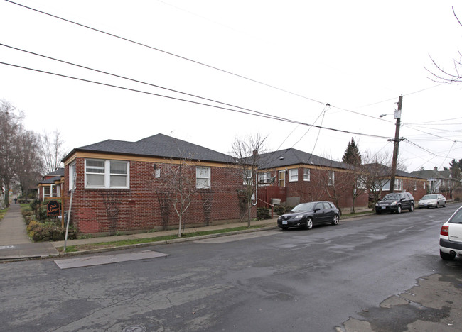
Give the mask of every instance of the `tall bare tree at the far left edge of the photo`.
[[0, 185], [4, 205], [9, 206], [9, 191], [16, 177], [17, 141], [23, 130], [22, 114], [8, 101], [0, 101]]

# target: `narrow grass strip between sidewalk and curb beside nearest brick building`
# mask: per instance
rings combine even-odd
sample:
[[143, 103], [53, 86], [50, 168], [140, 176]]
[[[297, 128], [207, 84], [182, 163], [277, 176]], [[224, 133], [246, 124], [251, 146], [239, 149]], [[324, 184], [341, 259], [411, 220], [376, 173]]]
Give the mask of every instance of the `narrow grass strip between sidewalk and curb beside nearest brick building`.
[[[235, 227], [235, 228], [225, 228], [225, 229], [217, 229], [214, 231], [198, 231], [192, 233], [183, 233], [181, 238], [194, 238], [197, 236], [205, 236], [210, 234], [220, 234], [220, 233], [230, 233], [235, 231], [244, 231], [246, 229], [254, 229], [254, 228], [262, 228], [265, 226], [262, 225], [254, 225], [247, 228], [246, 226], [242, 227]], [[131, 240], [114, 240], [110, 242], [100, 242], [100, 243], [91, 243], [85, 245], [69, 245], [66, 247], [66, 253], [75, 253], [82, 250], [93, 250], [93, 249], [102, 249], [102, 248], [117, 248], [123, 245], [137, 245], [141, 243], [151, 243], [151, 242], [160, 242], [166, 240], [174, 240], [178, 239], [178, 235], [168, 235], [168, 236], [153, 236], [151, 238], [136, 238]], [[64, 251], [63, 247], [56, 248], [60, 253]]]

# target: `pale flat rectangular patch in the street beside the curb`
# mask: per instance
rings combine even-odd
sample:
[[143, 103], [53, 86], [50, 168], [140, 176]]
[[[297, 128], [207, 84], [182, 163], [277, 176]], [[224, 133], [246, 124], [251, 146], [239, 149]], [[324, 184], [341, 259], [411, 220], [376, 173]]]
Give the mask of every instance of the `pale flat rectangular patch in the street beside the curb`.
[[127, 262], [129, 260], [145, 260], [146, 258], [165, 257], [167, 254], [157, 253], [156, 251], [144, 250], [136, 253], [124, 253], [117, 255], [100, 255], [81, 258], [69, 258], [67, 260], [55, 260], [56, 265], [63, 269], [72, 267], [85, 267], [92, 265], [113, 264], [117, 262]]

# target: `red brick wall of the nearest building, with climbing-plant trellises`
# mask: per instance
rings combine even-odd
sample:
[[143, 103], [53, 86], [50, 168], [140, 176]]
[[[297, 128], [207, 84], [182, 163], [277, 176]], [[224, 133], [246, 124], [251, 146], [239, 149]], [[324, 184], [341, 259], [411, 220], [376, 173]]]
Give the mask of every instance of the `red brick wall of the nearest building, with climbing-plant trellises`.
[[[115, 158], [114, 158], [115, 159]], [[158, 199], [159, 188], [168, 169], [178, 165], [156, 164], [161, 168], [161, 177], [154, 178], [154, 163], [145, 161], [130, 162], [130, 188], [129, 189], [85, 189], [84, 170], [85, 159], [77, 157], [77, 181], [72, 201], [71, 221], [81, 233], [101, 233], [112, 231], [145, 231], [162, 226], [161, 209]], [[210, 218], [212, 221], [238, 220], [240, 217], [237, 189], [242, 187], [242, 177], [230, 167], [210, 167], [211, 189], [202, 189], [211, 202]], [[195, 184], [195, 167], [188, 172]], [[64, 195], [65, 206], [68, 209], [70, 202], [69, 166], [65, 167]], [[117, 201], [119, 213], [117, 214], [117, 227], [109, 227], [109, 218], [106, 211], [108, 204], [104, 204], [104, 194], [112, 193], [112, 199]], [[205, 196], [205, 195], [204, 195]], [[211, 197], [211, 199], [210, 199]], [[192, 202], [183, 214], [182, 222], [194, 225], [203, 225], [205, 215], [203, 196], [195, 192]], [[252, 218], [256, 216], [256, 209], [252, 209]], [[115, 220], [115, 219], [114, 219]], [[168, 226], [178, 226], [179, 218], [170, 204]], [[115, 221], [114, 221], [115, 224]]]

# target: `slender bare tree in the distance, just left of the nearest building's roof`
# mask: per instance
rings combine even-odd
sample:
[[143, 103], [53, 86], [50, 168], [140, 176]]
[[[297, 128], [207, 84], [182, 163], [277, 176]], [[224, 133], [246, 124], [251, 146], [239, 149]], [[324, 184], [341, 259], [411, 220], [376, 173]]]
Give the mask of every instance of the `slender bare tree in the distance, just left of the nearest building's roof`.
[[58, 130], [53, 133], [43, 133], [41, 137], [41, 153], [43, 158], [43, 173], [53, 173], [61, 165], [66, 155], [64, 140]]

